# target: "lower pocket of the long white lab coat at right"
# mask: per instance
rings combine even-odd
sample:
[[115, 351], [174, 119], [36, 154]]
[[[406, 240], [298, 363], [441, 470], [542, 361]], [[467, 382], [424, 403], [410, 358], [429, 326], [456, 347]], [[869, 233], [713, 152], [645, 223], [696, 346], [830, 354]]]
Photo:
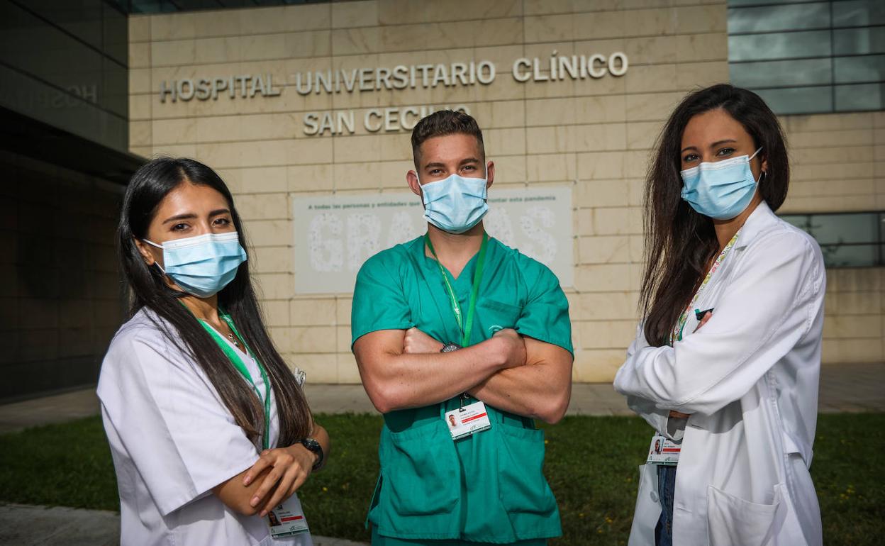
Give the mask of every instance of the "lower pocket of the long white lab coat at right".
[[707, 488], [707, 538], [711, 546], [763, 546], [783, 525], [784, 486], [774, 486], [772, 504], [750, 503], [712, 485]]

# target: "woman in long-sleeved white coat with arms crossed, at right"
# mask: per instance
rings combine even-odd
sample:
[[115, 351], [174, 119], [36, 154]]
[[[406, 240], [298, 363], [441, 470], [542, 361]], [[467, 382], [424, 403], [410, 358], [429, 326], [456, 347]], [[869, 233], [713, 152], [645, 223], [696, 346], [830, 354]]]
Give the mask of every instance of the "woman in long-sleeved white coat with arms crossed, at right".
[[821, 543], [808, 468], [826, 278], [812, 237], [774, 215], [788, 184], [781, 127], [756, 94], [704, 88], [666, 122], [644, 319], [614, 387], [681, 454], [641, 468], [630, 544]]

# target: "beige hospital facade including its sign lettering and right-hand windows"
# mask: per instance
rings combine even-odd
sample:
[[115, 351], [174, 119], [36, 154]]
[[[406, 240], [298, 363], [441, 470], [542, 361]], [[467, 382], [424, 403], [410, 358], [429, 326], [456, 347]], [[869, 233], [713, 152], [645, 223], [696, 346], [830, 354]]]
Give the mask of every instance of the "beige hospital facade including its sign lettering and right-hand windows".
[[[859, 6], [866, 19], [854, 27], [850, 18], [812, 21], [807, 32], [825, 24], [830, 35], [859, 29], [860, 38], [849, 32], [841, 50], [815, 53], [818, 65], [831, 65], [828, 81], [818, 73], [811, 82], [772, 82], [763, 74], [799, 63], [793, 73], [807, 76], [813, 63], [789, 53], [765, 58], [772, 46], [760, 43], [795, 29], [754, 27], [766, 13], [741, 12], [741, 4], [364, 0], [131, 15], [128, 146], [144, 158], [187, 156], [219, 171], [245, 219], [274, 342], [311, 381], [354, 383], [350, 291], [298, 288], [305, 235], [295, 211], [312, 198], [356, 203], [404, 192], [411, 127], [435, 109], [464, 109], [496, 163], [490, 197], [570, 188], [563, 233], [572, 247], [564, 288], [573, 377], [611, 381], [635, 335], [650, 150], [682, 96], [735, 81], [789, 112], [781, 122], [793, 179], [780, 212], [817, 229], [835, 257], [825, 362], [885, 360], [881, 9], [818, 3], [829, 12], [829, 4]], [[766, 3], [745, 9], [758, 4]], [[795, 27], [793, 15], [779, 17]], [[863, 57], [860, 68], [854, 59], [834, 69], [845, 40], [864, 32], [866, 53], [846, 54]], [[879, 81], [858, 82], [864, 67]], [[871, 93], [879, 93], [875, 101]]]

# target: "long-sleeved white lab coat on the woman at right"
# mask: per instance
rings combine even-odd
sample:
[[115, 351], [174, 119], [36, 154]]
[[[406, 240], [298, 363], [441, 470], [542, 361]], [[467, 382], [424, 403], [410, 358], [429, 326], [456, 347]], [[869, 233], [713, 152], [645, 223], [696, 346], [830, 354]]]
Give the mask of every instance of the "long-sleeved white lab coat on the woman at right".
[[[757, 546], [822, 542], [808, 473], [817, 425], [826, 274], [811, 236], [759, 204], [673, 347], [637, 328], [614, 388], [659, 433], [682, 439], [673, 542]], [[694, 310], [692, 310], [694, 311]], [[667, 430], [670, 410], [692, 414]], [[653, 545], [658, 477], [643, 465], [631, 545]]]

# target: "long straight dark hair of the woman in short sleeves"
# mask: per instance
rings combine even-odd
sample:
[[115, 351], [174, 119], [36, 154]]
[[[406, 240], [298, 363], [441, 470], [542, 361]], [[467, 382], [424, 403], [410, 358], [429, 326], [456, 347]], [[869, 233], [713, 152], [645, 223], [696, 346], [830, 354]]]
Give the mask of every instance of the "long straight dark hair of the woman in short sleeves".
[[[156, 158], [143, 165], [129, 181], [117, 229], [119, 259], [129, 285], [129, 316], [146, 307], [162, 320], [154, 320], [166, 337], [203, 368], [221, 401], [251, 441], [264, 431], [264, 406], [243, 381], [227, 356], [179, 298], [184, 293], [169, 288], [157, 265], [148, 267], [135, 246], [147, 236], [158, 205], [183, 183], [203, 184], [227, 200], [242, 248], [247, 248], [240, 215], [224, 181], [206, 165], [187, 158]], [[267, 371], [280, 419], [278, 445], [288, 446], [310, 435], [312, 416], [289, 366], [267, 335], [258, 299], [249, 276], [249, 261], [218, 294], [219, 308], [230, 313], [240, 334]], [[150, 315], [149, 315], [150, 317]], [[153, 319], [153, 317], [150, 317]], [[173, 331], [166, 325], [171, 326]]]

